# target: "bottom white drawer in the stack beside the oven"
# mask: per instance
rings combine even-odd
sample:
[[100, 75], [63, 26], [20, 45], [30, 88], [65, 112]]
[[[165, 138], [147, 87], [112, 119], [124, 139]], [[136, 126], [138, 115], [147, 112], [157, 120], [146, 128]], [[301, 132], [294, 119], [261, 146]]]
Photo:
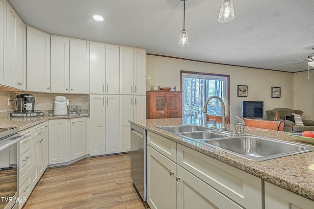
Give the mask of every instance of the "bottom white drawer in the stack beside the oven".
[[20, 203], [19, 209], [23, 207], [27, 198], [29, 197], [32, 186], [31, 186], [31, 168], [29, 168], [26, 173], [20, 178]]

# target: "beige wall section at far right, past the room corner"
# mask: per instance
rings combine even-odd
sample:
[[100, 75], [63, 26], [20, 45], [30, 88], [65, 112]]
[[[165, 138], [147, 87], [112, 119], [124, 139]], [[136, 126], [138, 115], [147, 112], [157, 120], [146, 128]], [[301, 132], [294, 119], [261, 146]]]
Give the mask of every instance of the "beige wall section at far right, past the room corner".
[[293, 74], [293, 106], [302, 110], [303, 119], [314, 120], [314, 71]]

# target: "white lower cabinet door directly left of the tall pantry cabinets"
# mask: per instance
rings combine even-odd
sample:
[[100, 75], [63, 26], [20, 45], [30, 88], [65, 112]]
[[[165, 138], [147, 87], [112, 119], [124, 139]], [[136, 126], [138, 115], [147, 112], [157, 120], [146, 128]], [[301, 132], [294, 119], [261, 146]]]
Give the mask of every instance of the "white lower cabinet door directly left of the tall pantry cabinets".
[[70, 161], [87, 153], [86, 128], [86, 117], [70, 119]]

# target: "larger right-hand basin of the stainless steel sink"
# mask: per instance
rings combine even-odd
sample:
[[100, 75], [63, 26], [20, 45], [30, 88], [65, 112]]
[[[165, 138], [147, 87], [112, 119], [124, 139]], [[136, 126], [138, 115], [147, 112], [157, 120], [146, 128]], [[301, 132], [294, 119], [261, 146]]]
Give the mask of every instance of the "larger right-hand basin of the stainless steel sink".
[[313, 146], [257, 136], [210, 139], [203, 142], [251, 161], [264, 161], [314, 150]]

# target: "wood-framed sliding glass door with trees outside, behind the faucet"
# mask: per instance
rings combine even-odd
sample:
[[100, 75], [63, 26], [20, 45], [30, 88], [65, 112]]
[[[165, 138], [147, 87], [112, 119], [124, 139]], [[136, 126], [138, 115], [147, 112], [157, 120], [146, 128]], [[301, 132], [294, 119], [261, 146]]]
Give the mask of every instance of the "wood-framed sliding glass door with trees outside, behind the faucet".
[[[181, 70], [181, 89], [183, 90], [183, 117], [203, 120], [203, 105], [207, 98], [217, 95], [225, 103], [225, 116], [229, 115], [229, 75], [190, 72]], [[208, 114], [221, 116], [221, 103], [211, 99]]]

